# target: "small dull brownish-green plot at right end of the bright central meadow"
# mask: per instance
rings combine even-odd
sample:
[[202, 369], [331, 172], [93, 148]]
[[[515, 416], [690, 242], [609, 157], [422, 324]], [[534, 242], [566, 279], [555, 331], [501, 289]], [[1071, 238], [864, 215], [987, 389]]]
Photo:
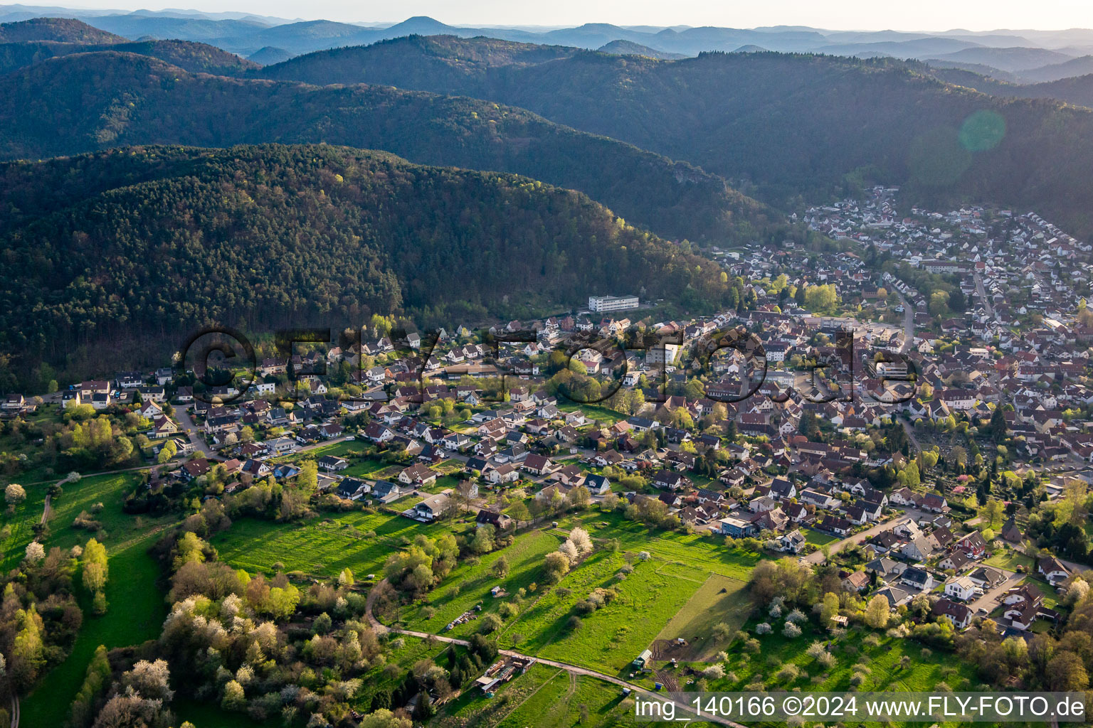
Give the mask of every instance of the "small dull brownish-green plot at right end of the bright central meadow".
[[717, 645], [710, 639], [710, 629], [718, 622], [725, 622], [736, 631], [748, 619], [751, 604], [743, 593], [744, 586], [747, 584], [740, 580], [710, 574], [660, 630], [657, 639], [683, 637], [691, 643], [693, 659], [709, 659], [717, 652]]

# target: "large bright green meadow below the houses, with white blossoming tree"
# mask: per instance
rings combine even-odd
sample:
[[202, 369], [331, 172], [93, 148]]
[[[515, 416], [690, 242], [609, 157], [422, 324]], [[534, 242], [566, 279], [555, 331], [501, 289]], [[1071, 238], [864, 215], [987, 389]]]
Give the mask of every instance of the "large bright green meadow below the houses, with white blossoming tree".
[[[597, 548], [561, 583], [548, 586], [544, 557], [577, 525], [590, 533]], [[612, 550], [615, 540], [619, 549]], [[638, 558], [642, 551], [648, 552], [648, 560]], [[509, 573], [498, 580], [490, 571], [502, 554]], [[589, 511], [561, 518], [557, 528], [522, 534], [512, 547], [478, 563], [461, 564], [432, 593], [427, 605], [411, 607], [401, 617], [410, 629], [438, 632], [475, 605], [489, 613], [507, 602], [518, 612], [497, 632], [503, 647], [622, 675], [673, 620], [677, 630], [700, 632], [719, 621], [738, 624], [742, 613], [737, 613], [740, 604], [733, 596], [757, 560], [759, 554], [728, 549], [709, 538], [655, 533], [616, 514]], [[620, 580], [618, 575], [628, 569], [633, 572]], [[534, 592], [529, 588], [532, 583], [538, 586]], [[495, 585], [509, 596], [494, 599], [490, 589]], [[579, 628], [571, 628], [578, 602], [595, 588], [611, 586], [616, 586], [619, 597], [583, 616]], [[516, 597], [519, 588], [527, 589], [522, 599]], [[701, 596], [693, 599], [696, 594]], [[479, 626], [471, 620], [450, 634], [466, 637]]]

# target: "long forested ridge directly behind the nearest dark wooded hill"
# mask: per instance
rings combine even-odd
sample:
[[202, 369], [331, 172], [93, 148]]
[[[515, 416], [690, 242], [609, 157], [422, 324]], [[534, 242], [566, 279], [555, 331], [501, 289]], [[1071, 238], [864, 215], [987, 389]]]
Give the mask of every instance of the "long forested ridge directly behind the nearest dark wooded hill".
[[327, 142], [527, 175], [585, 192], [662, 237], [774, 235], [768, 211], [719, 177], [493, 102], [196, 75], [109, 51], [14, 71], [0, 79], [0, 157], [9, 159], [125, 144]]

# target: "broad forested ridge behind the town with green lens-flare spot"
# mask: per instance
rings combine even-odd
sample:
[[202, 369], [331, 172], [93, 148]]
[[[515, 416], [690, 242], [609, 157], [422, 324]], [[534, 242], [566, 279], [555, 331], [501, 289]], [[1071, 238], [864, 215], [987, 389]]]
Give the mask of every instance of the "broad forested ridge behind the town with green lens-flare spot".
[[466, 48], [494, 43], [402, 38], [260, 73], [490, 98], [752, 180], [771, 200], [841, 192], [847, 175], [865, 175], [906, 186], [914, 201], [992, 201], [1093, 234], [1093, 187], [1074, 183], [1093, 166], [1093, 115], [1082, 109], [986, 96], [884, 59], [756, 52], [659, 61], [578, 51], [497, 65], [475, 60], [487, 49]]

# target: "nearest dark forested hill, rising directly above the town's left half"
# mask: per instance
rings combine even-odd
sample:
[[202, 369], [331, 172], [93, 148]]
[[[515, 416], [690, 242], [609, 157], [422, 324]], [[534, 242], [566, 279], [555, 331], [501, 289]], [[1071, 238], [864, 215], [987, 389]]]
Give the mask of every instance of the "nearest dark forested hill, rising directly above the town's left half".
[[5, 163], [0, 248], [0, 350], [24, 367], [73, 350], [89, 367], [151, 365], [214, 321], [473, 323], [592, 293], [710, 309], [740, 295], [712, 261], [580, 193], [327, 145]]

